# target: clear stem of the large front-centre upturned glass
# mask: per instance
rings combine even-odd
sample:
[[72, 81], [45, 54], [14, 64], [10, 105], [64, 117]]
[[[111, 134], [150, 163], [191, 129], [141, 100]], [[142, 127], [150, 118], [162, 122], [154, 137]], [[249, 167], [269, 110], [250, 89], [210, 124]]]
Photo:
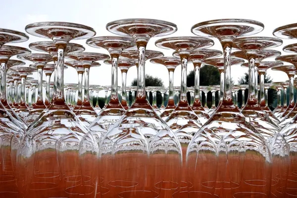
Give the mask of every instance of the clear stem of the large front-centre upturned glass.
[[138, 46], [137, 97], [146, 98], [146, 44]]

